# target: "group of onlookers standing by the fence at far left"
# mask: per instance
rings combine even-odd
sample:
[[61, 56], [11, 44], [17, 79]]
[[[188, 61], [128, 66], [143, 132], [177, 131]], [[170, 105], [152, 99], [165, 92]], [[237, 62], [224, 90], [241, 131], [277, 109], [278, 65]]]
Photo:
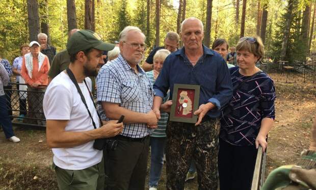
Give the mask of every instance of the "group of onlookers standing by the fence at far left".
[[[54, 58], [56, 48], [47, 44], [47, 35], [38, 34], [38, 41], [20, 46], [21, 56], [13, 61], [13, 65], [6, 59], [0, 58], [0, 65], [4, 66], [6, 73], [1, 75], [2, 88], [1, 100], [1, 126], [3, 127], [6, 138], [13, 143], [18, 143], [20, 139], [16, 137], [12, 129], [12, 85], [11, 76], [16, 75], [16, 88], [19, 97], [19, 120], [24, 117], [42, 118], [42, 120], [30, 120], [30, 123], [45, 125], [45, 116], [42, 114], [42, 100], [46, 86], [48, 84], [49, 59]], [[8, 77], [8, 81], [7, 81]], [[27, 84], [24, 85], [24, 84]], [[23, 92], [27, 91], [27, 93]], [[42, 93], [39, 93], [42, 92]], [[27, 101], [28, 100], [28, 101]], [[27, 111], [28, 104], [28, 111]]]

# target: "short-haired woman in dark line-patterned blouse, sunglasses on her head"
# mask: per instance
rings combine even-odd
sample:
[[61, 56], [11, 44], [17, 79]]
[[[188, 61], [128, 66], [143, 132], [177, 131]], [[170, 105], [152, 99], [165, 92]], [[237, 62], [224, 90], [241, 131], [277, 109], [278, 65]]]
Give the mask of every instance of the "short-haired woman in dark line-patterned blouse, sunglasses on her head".
[[229, 102], [231, 109], [224, 110], [221, 118], [221, 190], [251, 188], [257, 148], [267, 148], [267, 135], [275, 118], [273, 80], [255, 66], [264, 55], [261, 39], [243, 37], [236, 50], [239, 66], [230, 68], [234, 89]]

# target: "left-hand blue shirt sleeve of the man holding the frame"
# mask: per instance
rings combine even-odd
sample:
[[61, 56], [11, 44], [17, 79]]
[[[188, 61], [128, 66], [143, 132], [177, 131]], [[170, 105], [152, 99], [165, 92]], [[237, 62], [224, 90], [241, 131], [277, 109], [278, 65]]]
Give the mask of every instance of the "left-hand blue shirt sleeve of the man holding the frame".
[[170, 57], [167, 57], [163, 68], [153, 85], [153, 90], [155, 91], [155, 96], [159, 96], [162, 99], [167, 96], [169, 89], [169, 72], [170, 72]]

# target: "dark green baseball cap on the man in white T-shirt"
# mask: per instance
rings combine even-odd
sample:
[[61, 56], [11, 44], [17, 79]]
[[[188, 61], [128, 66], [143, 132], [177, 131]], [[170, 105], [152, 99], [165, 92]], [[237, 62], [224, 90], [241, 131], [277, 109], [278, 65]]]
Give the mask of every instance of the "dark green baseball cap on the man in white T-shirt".
[[67, 42], [69, 54], [75, 54], [83, 50], [95, 48], [101, 51], [110, 51], [115, 47], [114, 44], [104, 43], [101, 37], [91, 30], [80, 30], [73, 33]]

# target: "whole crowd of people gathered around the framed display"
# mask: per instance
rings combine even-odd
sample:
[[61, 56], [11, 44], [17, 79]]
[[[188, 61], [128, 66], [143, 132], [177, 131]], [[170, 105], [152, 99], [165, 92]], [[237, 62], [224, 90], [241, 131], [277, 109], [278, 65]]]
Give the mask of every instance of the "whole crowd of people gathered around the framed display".
[[[216, 39], [208, 49], [194, 17], [180, 31], [168, 32], [142, 67], [146, 36], [133, 26], [117, 44], [73, 29], [57, 54], [42, 33], [21, 46], [12, 68], [17, 84], [28, 86], [29, 109], [20, 96], [20, 118], [43, 110], [33, 117], [46, 126], [60, 189], [144, 189], [149, 150], [150, 190], [157, 189], [164, 155], [166, 189], [184, 189], [196, 173], [199, 189], [218, 189], [218, 180], [223, 190], [251, 188], [257, 149], [265, 151], [275, 118], [273, 80], [255, 66], [264, 44], [243, 37], [229, 49]], [[0, 121], [6, 138], [18, 142], [2, 89], [12, 69], [0, 63]], [[175, 84], [200, 86], [195, 124], [168, 121]], [[39, 94], [42, 105], [32, 101]]]

